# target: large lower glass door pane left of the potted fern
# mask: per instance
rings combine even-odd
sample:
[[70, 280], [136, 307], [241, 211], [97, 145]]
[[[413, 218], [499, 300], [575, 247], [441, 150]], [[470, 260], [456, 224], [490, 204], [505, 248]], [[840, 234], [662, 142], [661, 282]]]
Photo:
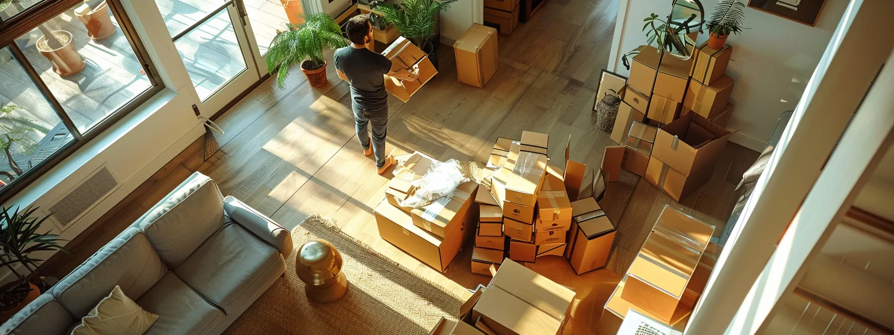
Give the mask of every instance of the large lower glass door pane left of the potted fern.
[[248, 69], [225, 9], [174, 41], [174, 45], [202, 100]]

